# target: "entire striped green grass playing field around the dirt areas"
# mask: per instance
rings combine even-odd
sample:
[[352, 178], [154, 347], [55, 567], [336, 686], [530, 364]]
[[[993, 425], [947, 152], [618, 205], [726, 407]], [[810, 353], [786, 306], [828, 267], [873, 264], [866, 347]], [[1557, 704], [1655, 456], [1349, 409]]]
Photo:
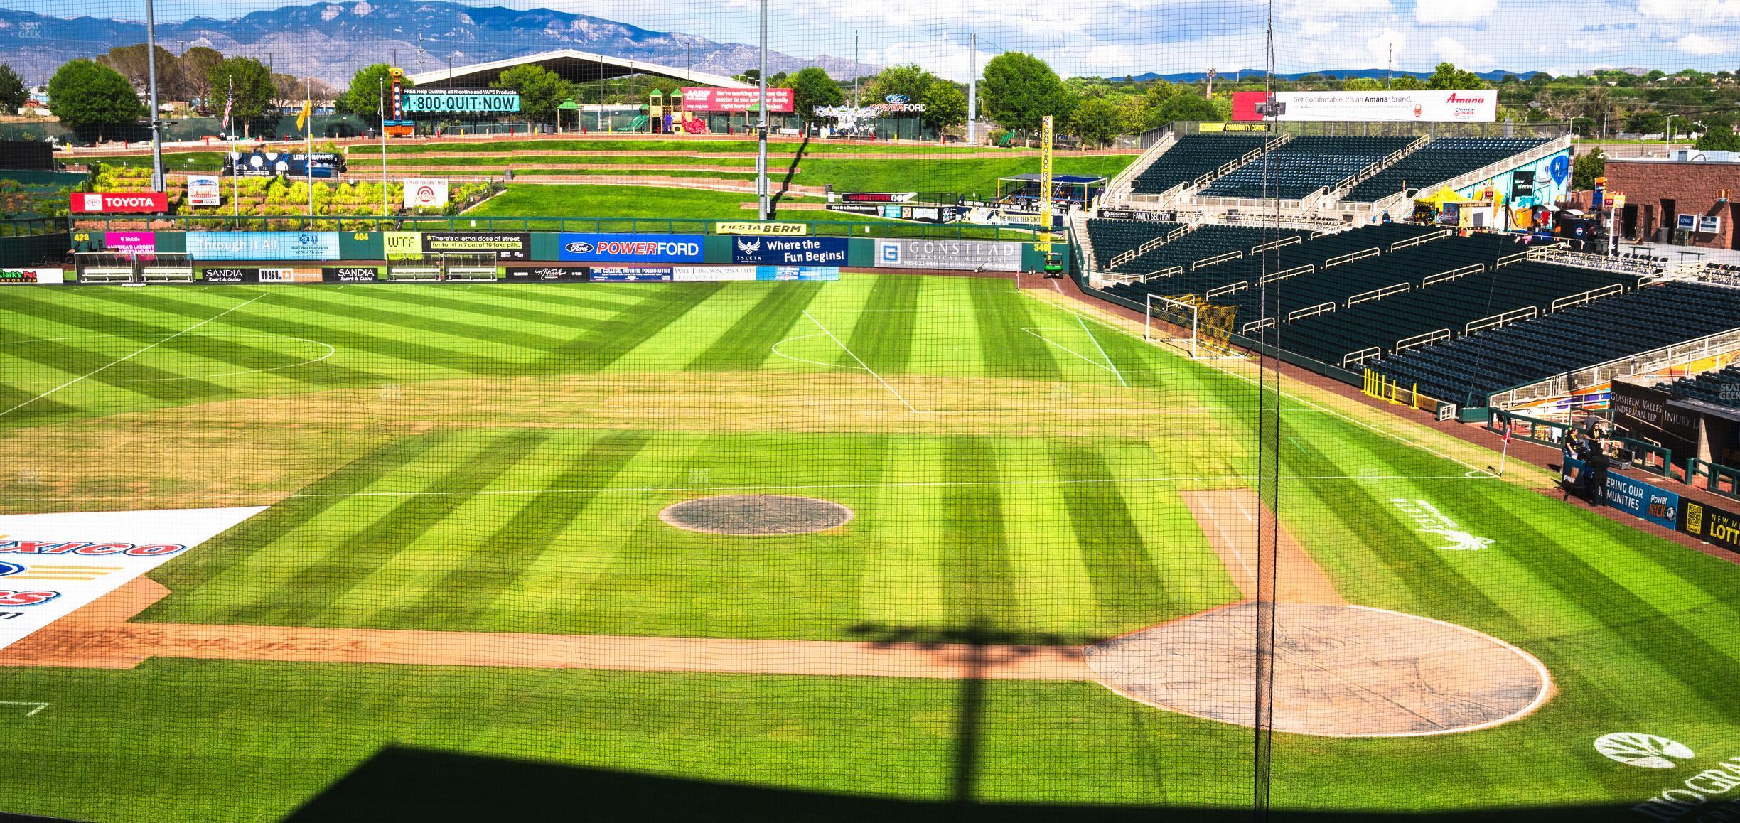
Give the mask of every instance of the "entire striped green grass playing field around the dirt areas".
[[[157, 623], [1079, 644], [1237, 599], [1178, 496], [1255, 472], [1227, 369], [992, 278], [21, 287], [0, 512], [270, 503], [153, 572]], [[1509, 640], [1557, 694], [1488, 731], [1277, 734], [1277, 807], [1644, 820], [1622, 806], [1740, 757], [1740, 567], [1288, 388], [1281, 520], [1342, 595]], [[656, 517], [741, 491], [856, 517]], [[1437, 548], [1402, 498], [1493, 545]], [[158, 658], [0, 668], [0, 701], [49, 703], [0, 703], [0, 809], [103, 821], [278, 820], [407, 748], [936, 802], [1235, 809], [1251, 774], [1248, 729], [1089, 682]], [[1623, 766], [1590, 745], [1616, 731], [1696, 757]]]

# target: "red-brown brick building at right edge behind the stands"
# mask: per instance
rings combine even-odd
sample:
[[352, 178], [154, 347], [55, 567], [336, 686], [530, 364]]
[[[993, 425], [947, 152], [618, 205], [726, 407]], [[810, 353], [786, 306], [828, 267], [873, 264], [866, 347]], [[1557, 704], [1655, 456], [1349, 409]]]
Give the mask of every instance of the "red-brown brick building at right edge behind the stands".
[[1740, 153], [1681, 150], [1670, 158], [1610, 158], [1606, 176], [1608, 191], [1625, 195], [1616, 216], [1622, 237], [1740, 249], [1740, 205], [1730, 200], [1740, 193]]

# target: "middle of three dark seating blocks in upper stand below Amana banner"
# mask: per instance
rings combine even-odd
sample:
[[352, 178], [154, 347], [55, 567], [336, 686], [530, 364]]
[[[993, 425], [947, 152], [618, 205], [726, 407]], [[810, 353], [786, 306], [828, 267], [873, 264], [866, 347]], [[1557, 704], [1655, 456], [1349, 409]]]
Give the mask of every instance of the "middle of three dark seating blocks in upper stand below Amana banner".
[[1415, 137], [1293, 137], [1202, 188], [1202, 197], [1298, 200], [1408, 148]]

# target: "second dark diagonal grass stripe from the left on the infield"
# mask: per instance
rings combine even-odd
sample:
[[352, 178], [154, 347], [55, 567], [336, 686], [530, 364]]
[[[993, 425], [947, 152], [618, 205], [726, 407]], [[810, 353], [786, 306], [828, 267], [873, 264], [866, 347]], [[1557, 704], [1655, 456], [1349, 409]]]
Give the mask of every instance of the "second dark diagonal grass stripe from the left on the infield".
[[487, 487], [548, 437], [550, 432], [543, 430], [492, 435], [473, 459], [451, 461], [449, 470], [425, 487], [444, 494], [404, 498], [374, 522], [336, 541], [299, 574], [256, 599], [251, 621], [311, 625], [331, 602], [465, 505], [472, 498], [468, 492]]

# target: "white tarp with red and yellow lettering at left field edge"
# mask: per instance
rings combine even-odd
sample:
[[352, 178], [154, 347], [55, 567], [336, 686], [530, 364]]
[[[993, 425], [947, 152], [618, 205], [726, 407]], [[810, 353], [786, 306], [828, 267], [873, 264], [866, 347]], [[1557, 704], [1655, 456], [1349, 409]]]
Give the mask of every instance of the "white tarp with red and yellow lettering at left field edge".
[[0, 649], [264, 510], [0, 515]]

